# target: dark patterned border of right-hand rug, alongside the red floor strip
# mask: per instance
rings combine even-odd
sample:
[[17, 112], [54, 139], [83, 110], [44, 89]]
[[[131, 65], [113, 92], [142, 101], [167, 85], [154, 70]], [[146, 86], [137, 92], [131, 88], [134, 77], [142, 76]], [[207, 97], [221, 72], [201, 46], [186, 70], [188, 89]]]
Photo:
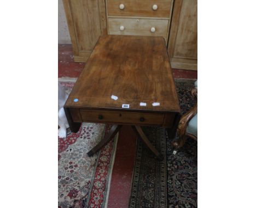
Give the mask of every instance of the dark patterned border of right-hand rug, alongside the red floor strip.
[[[155, 132], [150, 134], [152, 130]], [[156, 149], [160, 150], [162, 155], [166, 155], [165, 129], [162, 127], [143, 127], [143, 132]], [[157, 137], [158, 135], [160, 137]], [[137, 139], [129, 207], [165, 208], [167, 204], [166, 171], [166, 157], [161, 162], [156, 160], [152, 152], [145, 148], [141, 140]], [[159, 197], [155, 197], [155, 193], [158, 193]]]

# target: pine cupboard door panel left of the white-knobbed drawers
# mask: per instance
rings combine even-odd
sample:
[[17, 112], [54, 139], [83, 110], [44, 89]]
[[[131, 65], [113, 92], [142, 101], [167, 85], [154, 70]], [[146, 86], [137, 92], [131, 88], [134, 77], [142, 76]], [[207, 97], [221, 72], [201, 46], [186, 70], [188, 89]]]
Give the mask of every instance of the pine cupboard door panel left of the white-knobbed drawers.
[[75, 62], [86, 62], [98, 38], [107, 34], [104, 0], [63, 0]]

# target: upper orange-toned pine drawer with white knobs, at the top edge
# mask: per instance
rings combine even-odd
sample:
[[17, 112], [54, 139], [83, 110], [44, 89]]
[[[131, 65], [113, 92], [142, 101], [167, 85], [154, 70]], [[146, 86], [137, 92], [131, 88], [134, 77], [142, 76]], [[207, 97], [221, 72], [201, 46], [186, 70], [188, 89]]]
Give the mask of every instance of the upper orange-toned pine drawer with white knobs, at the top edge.
[[107, 0], [108, 16], [170, 18], [172, 0]]

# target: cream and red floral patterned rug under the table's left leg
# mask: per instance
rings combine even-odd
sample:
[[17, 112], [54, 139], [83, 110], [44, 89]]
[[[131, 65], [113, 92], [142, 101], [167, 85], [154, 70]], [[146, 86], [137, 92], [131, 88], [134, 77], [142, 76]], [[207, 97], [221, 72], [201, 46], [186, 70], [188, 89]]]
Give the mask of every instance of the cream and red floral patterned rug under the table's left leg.
[[[74, 83], [62, 82], [67, 93]], [[93, 157], [86, 153], [106, 134], [110, 125], [83, 123], [78, 133], [67, 131], [59, 144], [59, 207], [107, 206], [118, 136]]]

